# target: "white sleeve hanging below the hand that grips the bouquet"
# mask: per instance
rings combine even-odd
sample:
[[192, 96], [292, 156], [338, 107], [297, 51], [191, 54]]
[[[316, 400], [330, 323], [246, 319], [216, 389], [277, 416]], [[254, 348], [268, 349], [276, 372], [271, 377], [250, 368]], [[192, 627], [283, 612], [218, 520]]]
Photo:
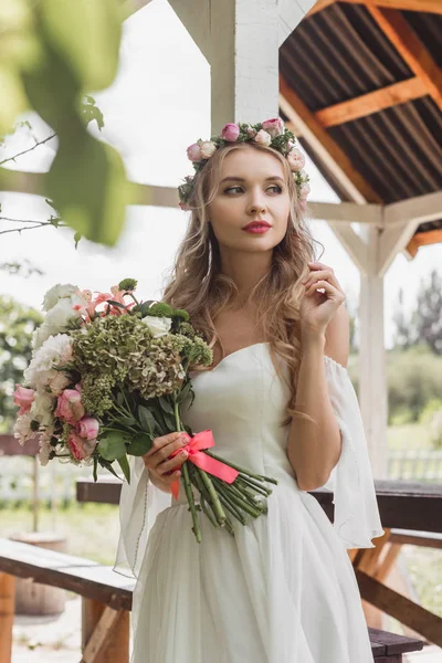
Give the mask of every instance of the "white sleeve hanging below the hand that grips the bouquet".
[[138, 578], [149, 532], [171, 496], [149, 480], [143, 459], [129, 456], [130, 484], [123, 483], [119, 498], [120, 533], [114, 571]]

